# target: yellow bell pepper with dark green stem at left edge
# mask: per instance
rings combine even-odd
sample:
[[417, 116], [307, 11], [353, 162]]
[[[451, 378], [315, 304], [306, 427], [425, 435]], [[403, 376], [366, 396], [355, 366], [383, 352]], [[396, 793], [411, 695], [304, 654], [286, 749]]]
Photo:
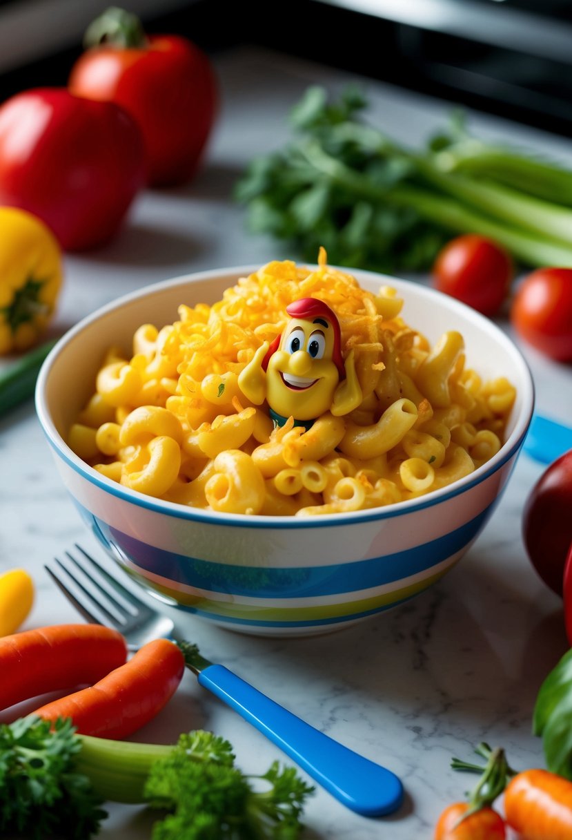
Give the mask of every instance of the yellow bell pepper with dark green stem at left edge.
[[0, 355], [35, 344], [55, 309], [63, 276], [60, 245], [44, 222], [0, 207]]

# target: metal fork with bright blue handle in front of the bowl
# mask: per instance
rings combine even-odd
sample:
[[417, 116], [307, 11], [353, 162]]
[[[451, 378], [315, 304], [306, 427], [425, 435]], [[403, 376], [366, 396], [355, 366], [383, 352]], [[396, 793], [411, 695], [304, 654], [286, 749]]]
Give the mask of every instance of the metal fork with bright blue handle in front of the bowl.
[[[88, 622], [119, 630], [131, 650], [153, 638], [178, 641], [169, 617], [148, 606], [79, 545], [75, 549], [81, 559], [66, 551], [66, 564], [55, 558], [55, 565], [46, 564], [44, 568]], [[74, 582], [73, 590], [68, 580]], [[383, 816], [401, 805], [403, 785], [391, 770], [309, 726], [223, 665], [212, 664], [200, 655], [196, 645], [185, 643], [185, 654], [200, 685], [263, 732], [351, 811]]]

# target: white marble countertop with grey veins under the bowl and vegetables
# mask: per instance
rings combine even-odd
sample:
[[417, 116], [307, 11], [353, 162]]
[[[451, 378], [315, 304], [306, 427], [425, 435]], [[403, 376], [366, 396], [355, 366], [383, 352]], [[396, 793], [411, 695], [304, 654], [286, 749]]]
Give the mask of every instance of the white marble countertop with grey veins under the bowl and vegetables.
[[[242, 211], [230, 200], [231, 186], [252, 155], [283, 142], [285, 114], [309, 83], [335, 89], [348, 76], [247, 49], [221, 56], [217, 68], [221, 114], [200, 176], [185, 188], [143, 194], [113, 244], [66, 258], [55, 333], [139, 286], [287, 255], [282, 247], [245, 233]], [[451, 108], [380, 83], [365, 85], [372, 118], [411, 144], [442, 124]], [[471, 125], [487, 136], [572, 158], [569, 142], [541, 131], [476, 113]], [[510, 329], [506, 321], [499, 323]], [[523, 352], [533, 370], [538, 411], [569, 420], [570, 367], [526, 347]], [[197, 641], [205, 656], [403, 779], [403, 808], [374, 820], [356, 816], [317, 790], [305, 809], [304, 837], [432, 837], [439, 812], [462, 799], [472, 782], [450, 770], [451, 756], [469, 759], [481, 740], [507, 748], [517, 768], [543, 764], [541, 744], [531, 734], [533, 702], [567, 643], [561, 602], [533, 571], [521, 537], [523, 503], [542, 470], [522, 454], [484, 533], [449, 575], [406, 605], [340, 633], [252, 638], [174, 613], [179, 633]], [[75, 621], [43, 564], [75, 542], [100, 557], [101, 550], [60, 483], [31, 402], [0, 421], [0, 471], [0, 571], [22, 565], [37, 586], [25, 627]], [[273, 759], [283, 759], [278, 748], [190, 674], [137, 739], [171, 742], [197, 727], [228, 738], [246, 771], [264, 772]], [[150, 836], [152, 817], [144, 809], [110, 806], [109, 811], [101, 840]]]

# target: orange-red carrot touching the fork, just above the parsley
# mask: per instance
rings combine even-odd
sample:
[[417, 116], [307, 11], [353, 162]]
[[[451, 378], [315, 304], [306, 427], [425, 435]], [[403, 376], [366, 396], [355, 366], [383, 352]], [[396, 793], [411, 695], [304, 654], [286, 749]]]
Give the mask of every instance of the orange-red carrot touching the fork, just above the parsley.
[[82, 735], [126, 738], [158, 714], [184, 670], [185, 657], [177, 645], [159, 638], [96, 685], [41, 706], [34, 715], [49, 721], [70, 717]]

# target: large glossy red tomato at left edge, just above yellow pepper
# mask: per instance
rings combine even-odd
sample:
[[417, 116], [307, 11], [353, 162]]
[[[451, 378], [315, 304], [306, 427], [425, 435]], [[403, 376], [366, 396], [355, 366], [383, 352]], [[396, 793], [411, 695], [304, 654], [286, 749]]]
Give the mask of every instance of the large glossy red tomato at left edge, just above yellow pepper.
[[0, 205], [34, 213], [66, 250], [117, 232], [143, 186], [143, 167], [138, 126], [113, 102], [54, 87], [0, 107]]

